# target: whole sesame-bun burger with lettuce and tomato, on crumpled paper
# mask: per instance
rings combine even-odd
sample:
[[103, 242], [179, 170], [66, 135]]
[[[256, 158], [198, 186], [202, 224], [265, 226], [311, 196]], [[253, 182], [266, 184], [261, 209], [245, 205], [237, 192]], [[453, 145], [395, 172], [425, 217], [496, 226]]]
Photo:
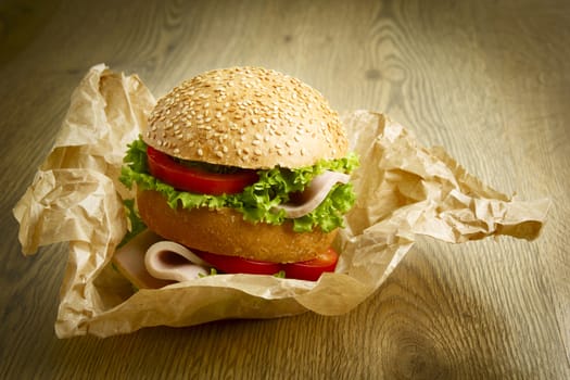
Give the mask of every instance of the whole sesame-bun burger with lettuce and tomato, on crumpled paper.
[[148, 229], [219, 271], [316, 279], [333, 270], [330, 246], [355, 202], [347, 147], [311, 86], [261, 67], [214, 69], [157, 101], [121, 179]]

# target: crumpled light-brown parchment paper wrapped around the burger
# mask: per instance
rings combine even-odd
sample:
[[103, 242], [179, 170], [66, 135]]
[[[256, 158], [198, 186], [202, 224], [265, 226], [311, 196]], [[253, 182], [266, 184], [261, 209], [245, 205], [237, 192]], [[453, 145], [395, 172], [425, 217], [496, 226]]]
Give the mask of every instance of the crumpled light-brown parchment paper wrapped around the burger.
[[351, 149], [360, 155], [353, 174], [358, 200], [335, 241], [337, 273], [317, 282], [217, 275], [135, 292], [110, 265], [127, 231], [122, 200], [134, 197], [118, 175], [126, 144], [147, 128], [154, 103], [136, 75], [93, 66], [72, 94], [51, 153], [13, 210], [24, 254], [68, 242], [55, 322], [60, 338], [307, 311], [339, 315], [378, 289], [417, 235], [459, 243], [498, 235], [530, 240], [546, 218], [548, 200], [512, 200], [442, 149], [421, 147], [384, 115], [356, 111], [343, 123]]

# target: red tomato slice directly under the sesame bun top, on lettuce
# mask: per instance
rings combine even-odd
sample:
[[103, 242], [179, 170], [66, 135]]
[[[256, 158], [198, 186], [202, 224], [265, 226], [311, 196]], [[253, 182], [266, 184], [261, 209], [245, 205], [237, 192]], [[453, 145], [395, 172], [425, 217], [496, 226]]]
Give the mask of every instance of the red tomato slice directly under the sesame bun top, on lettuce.
[[255, 170], [216, 174], [187, 167], [150, 145], [147, 148], [147, 156], [150, 173], [178, 190], [211, 195], [237, 194], [258, 179]]

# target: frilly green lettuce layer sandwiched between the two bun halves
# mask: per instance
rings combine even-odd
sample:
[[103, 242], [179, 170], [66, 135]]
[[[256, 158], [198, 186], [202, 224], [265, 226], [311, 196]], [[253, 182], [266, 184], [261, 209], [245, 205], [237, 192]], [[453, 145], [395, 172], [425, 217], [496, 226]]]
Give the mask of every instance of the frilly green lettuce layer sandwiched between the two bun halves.
[[142, 190], [156, 190], [167, 200], [170, 207], [181, 205], [185, 208], [194, 207], [231, 207], [239, 211], [250, 223], [267, 223], [280, 225], [286, 220], [293, 221], [297, 232], [312, 231], [320, 228], [329, 232], [337, 227], [343, 227], [343, 215], [355, 202], [355, 193], [351, 183], [337, 183], [327, 198], [314, 211], [299, 218], [288, 219], [284, 211], [275, 211], [275, 206], [286, 203], [290, 194], [303, 191], [313, 178], [325, 170], [350, 174], [358, 166], [358, 157], [350, 153], [343, 159], [319, 161], [317, 164], [296, 169], [274, 167], [257, 170], [259, 179], [248, 186], [239, 194], [210, 195], [176, 190], [149, 173], [147, 164], [147, 144], [139, 138], [128, 145], [122, 169], [121, 181], [128, 188], [137, 183]]

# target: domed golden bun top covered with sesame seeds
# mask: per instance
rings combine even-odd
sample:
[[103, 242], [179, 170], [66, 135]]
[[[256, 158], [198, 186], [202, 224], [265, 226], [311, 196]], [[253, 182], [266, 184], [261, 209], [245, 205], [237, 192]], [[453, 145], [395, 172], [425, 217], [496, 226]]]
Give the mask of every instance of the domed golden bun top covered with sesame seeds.
[[346, 154], [339, 115], [314, 88], [261, 67], [206, 72], [161, 98], [142, 136], [176, 157], [296, 168]]

